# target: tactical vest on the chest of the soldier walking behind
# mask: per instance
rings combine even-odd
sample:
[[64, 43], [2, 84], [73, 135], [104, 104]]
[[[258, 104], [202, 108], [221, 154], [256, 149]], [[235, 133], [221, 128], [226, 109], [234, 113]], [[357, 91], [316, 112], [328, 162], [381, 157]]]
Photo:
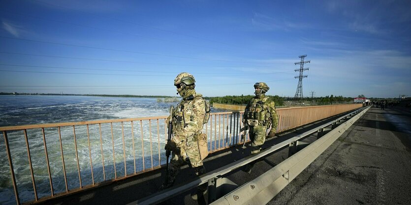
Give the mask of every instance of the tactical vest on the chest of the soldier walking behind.
[[271, 118], [269, 107], [267, 106], [268, 103], [265, 103], [267, 100], [269, 100], [269, 98], [264, 97], [263, 99], [260, 99], [258, 101], [253, 98], [252, 100], [253, 102], [251, 102], [252, 104], [247, 110], [246, 118], [258, 120], [258, 124], [266, 126], [270, 121], [269, 119]]

